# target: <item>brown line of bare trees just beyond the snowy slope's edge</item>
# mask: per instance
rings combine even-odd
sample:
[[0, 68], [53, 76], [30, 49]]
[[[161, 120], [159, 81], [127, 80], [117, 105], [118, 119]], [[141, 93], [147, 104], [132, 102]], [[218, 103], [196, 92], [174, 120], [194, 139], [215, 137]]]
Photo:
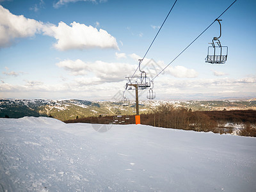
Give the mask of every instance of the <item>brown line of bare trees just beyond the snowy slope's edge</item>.
[[[95, 124], [135, 124], [134, 115], [127, 116], [97, 116], [76, 118], [66, 123], [83, 122]], [[193, 131], [212, 131], [214, 133], [232, 133], [232, 127], [225, 123], [244, 124], [237, 134], [256, 137], [256, 111], [192, 111], [186, 108], [175, 108], [171, 104], [163, 104], [151, 109], [151, 113], [141, 114], [141, 124], [154, 127], [184, 129]]]

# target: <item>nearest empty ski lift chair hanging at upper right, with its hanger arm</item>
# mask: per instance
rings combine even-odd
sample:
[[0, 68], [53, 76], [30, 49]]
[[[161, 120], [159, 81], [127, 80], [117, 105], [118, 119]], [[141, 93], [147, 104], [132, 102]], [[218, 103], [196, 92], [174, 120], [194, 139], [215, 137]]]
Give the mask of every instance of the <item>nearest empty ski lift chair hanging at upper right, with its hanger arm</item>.
[[[219, 24], [221, 19], [216, 19]], [[220, 24], [220, 36], [214, 37], [212, 42], [209, 43], [211, 46], [208, 47], [207, 57], [205, 58], [206, 63], [211, 64], [224, 64], [227, 61], [228, 47], [222, 46], [219, 38], [221, 37], [221, 24]]]

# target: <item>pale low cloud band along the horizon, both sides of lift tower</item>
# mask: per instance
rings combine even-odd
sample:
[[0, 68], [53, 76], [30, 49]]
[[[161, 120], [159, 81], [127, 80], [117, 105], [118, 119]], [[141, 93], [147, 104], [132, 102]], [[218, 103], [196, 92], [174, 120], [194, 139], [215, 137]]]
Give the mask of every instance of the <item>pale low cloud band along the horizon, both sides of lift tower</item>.
[[[95, 63], [90, 63], [90, 65]], [[99, 65], [102, 64], [99, 62]], [[250, 80], [250, 78], [252, 79]], [[122, 98], [125, 83], [126, 81], [104, 81], [100, 76], [77, 76], [76, 79], [70, 78], [69, 81], [61, 84], [56, 82], [45, 84], [44, 82], [33, 80], [25, 81], [24, 84], [8, 84], [2, 82], [0, 83], [0, 98], [17, 97], [35, 99], [38, 97], [42, 99], [61, 99], [64, 97], [63, 99], [67, 99], [79, 97], [81, 99], [96, 100], [117, 99], [119, 97], [120, 99]], [[218, 79], [197, 78], [185, 80], [170, 76], [159, 76], [154, 81], [154, 92], [156, 92], [157, 99], [255, 97], [255, 87], [256, 77], [244, 77], [242, 79], [229, 79], [227, 77]], [[116, 95], [118, 92], [121, 95]], [[145, 98], [146, 93], [147, 91], [141, 95], [141, 99]], [[132, 95], [134, 95], [133, 91]]]

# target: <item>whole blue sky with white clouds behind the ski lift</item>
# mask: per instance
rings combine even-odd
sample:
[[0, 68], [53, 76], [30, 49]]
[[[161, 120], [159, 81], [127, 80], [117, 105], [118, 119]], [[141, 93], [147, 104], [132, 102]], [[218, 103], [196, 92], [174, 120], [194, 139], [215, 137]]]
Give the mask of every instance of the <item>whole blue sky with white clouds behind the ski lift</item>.
[[[125, 76], [133, 74], [174, 2], [0, 0], [0, 98], [121, 99]], [[232, 2], [178, 0], [141, 63], [148, 77]], [[215, 22], [154, 79], [158, 100], [256, 97], [256, 1], [237, 1], [220, 19], [225, 65], [204, 61], [220, 33]], [[133, 99], [133, 92], [125, 97]]]

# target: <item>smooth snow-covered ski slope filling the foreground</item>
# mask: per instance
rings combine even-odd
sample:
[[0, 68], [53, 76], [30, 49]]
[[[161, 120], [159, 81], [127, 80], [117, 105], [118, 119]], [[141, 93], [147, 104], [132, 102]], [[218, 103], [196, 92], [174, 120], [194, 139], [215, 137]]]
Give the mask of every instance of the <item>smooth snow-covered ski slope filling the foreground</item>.
[[0, 118], [0, 191], [256, 191], [256, 138], [101, 126]]

